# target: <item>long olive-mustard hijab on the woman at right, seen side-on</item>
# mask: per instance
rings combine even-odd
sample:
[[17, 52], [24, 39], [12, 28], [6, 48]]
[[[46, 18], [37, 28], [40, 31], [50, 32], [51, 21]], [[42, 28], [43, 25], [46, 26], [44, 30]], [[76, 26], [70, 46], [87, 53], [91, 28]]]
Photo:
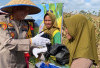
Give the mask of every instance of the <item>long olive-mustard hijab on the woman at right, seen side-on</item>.
[[64, 19], [69, 34], [74, 38], [67, 44], [70, 51], [70, 62], [75, 58], [87, 58], [98, 63], [97, 48], [95, 40], [95, 28], [93, 23], [85, 16], [78, 14]]

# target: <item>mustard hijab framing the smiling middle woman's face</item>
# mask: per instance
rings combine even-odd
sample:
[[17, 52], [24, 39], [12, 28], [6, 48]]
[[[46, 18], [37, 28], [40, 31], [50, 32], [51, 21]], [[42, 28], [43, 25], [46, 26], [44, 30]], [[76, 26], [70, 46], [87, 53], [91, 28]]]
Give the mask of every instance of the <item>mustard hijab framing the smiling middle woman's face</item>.
[[44, 25], [43, 31], [49, 35], [52, 35], [55, 30], [57, 30], [57, 29], [59, 30], [59, 27], [58, 27], [57, 21], [56, 21], [56, 16], [51, 12], [47, 12], [46, 14], [48, 14], [50, 16], [53, 24], [50, 29], [46, 28], [46, 26]]

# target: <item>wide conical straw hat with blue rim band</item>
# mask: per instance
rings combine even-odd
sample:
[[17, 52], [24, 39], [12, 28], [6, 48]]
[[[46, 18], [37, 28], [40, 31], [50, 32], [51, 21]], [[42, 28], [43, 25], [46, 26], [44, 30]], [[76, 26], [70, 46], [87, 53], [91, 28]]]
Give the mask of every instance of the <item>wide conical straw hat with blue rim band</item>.
[[32, 1], [30, 0], [11, 0], [8, 4], [1, 8], [2, 11], [12, 13], [14, 7], [28, 7], [29, 14], [36, 14], [41, 11]]

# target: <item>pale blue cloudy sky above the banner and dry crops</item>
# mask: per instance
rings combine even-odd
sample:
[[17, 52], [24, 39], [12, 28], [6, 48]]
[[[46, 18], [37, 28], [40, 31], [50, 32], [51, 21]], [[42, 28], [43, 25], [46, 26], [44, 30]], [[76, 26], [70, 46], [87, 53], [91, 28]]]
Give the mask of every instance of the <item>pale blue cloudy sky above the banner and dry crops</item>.
[[[11, 0], [0, 0], [0, 6], [5, 5]], [[41, 3], [63, 3], [63, 11], [96, 11], [100, 10], [100, 0], [31, 0], [35, 4]]]

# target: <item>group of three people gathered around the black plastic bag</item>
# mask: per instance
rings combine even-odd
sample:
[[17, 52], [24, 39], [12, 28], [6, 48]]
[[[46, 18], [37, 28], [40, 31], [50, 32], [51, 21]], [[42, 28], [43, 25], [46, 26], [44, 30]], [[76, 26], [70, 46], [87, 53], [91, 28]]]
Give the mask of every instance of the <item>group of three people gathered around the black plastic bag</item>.
[[[42, 32], [30, 38], [27, 38], [29, 25], [23, 20], [27, 15], [39, 13], [41, 11], [39, 7], [30, 0], [11, 0], [1, 8], [1, 11], [0, 68], [29, 68], [27, 63], [29, 52], [32, 52], [35, 57], [41, 57], [38, 54], [44, 55], [42, 57], [45, 58], [46, 62], [44, 60], [43, 62], [46, 66], [41, 67], [41, 63], [38, 68], [49, 68], [50, 63], [54, 64], [50, 61], [57, 59], [58, 56], [61, 57], [63, 52], [67, 54], [66, 51], [69, 52], [68, 55], [63, 55], [69, 56], [69, 63], [64, 65], [55, 63], [55, 67], [52, 68], [90, 68], [93, 64], [98, 64], [95, 28], [84, 15], [77, 14], [64, 19], [66, 39], [68, 39], [65, 48], [61, 47], [64, 45], [61, 43], [60, 28], [57, 26], [56, 16], [52, 10], [44, 15]], [[60, 53], [52, 54], [52, 57], [50, 56], [52, 51], [55, 51], [55, 54]], [[52, 59], [47, 61], [47, 57]]]

